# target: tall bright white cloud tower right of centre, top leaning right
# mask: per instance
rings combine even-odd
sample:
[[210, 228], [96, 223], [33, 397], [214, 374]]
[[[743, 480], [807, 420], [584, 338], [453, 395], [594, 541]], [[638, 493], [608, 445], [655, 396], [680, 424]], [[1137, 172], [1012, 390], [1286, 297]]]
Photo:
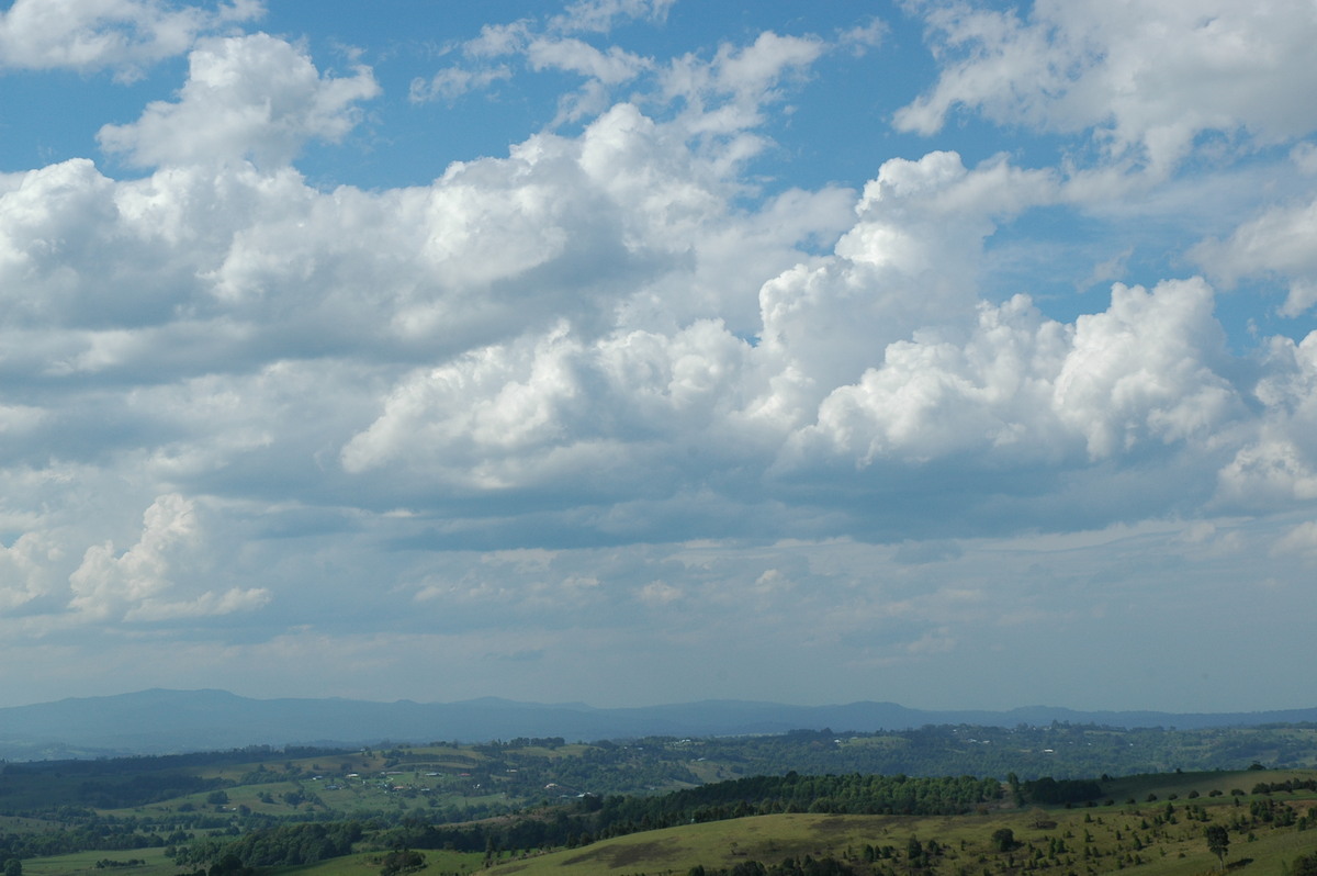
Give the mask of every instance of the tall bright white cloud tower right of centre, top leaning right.
[[817, 403], [881, 362], [888, 344], [965, 324], [996, 220], [1047, 203], [1055, 191], [1050, 174], [1005, 161], [967, 170], [957, 154], [939, 151], [884, 162], [835, 257], [798, 265], [761, 288], [763, 350], [781, 356], [784, 374]]

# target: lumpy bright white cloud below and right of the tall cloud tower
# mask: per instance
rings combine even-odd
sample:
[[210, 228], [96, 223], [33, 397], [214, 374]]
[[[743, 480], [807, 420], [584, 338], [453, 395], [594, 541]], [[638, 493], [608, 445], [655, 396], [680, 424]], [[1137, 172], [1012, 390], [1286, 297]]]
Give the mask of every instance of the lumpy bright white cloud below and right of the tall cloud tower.
[[964, 451], [1058, 462], [1076, 444], [1098, 460], [1148, 440], [1210, 439], [1243, 412], [1212, 370], [1221, 345], [1201, 281], [1118, 285], [1106, 312], [1075, 325], [1017, 296], [980, 306], [967, 344], [888, 345], [882, 366], [834, 390], [801, 437], [864, 465]]

